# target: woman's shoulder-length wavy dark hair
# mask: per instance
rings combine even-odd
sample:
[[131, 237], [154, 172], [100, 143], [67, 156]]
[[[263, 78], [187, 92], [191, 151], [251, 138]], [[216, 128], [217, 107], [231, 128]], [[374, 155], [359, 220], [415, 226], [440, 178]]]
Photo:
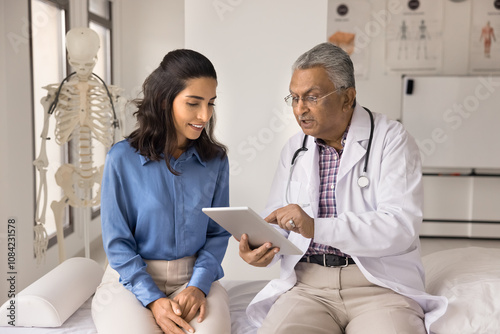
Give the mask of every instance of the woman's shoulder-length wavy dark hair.
[[[193, 50], [174, 50], [162, 60], [160, 66], [142, 85], [144, 97], [134, 100], [139, 127], [127, 137], [130, 145], [141, 155], [160, 161], [164, 154], [168, 169], [179, 175], [170, 165], [170, 157], [177, 149], [177, 133], [173, 119], [175, 97], [186, 88], [189, 79], [213, 78], [215, 68], [207, 57]], [[166, 106], [164, 104], [165, 101]], [[165, 108], [164, 108], [165, 107]], [[204, 161], [227, 154], [227, 148], [214, 137], [215, 113], [196, 140], [188, 140]]]

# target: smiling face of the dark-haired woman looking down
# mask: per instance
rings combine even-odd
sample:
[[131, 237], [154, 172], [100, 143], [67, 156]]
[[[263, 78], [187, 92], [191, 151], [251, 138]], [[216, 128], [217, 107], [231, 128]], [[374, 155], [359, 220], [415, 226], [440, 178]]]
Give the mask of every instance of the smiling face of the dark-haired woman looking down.
[[175, 97], [172, 114], [179, 148], [185, 147], [188, 139], [200, 137], [214, 113], [216, 88], [214, 78], [189, 79], [186, 88]]

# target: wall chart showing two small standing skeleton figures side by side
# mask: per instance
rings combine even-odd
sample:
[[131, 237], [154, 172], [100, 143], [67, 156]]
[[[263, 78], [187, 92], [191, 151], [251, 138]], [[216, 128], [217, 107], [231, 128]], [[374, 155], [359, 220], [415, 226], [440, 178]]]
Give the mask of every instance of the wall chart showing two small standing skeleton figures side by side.
[[386, 65], [395, 72], [436, 73], [442, 66], [443, 0], [388, 0]]

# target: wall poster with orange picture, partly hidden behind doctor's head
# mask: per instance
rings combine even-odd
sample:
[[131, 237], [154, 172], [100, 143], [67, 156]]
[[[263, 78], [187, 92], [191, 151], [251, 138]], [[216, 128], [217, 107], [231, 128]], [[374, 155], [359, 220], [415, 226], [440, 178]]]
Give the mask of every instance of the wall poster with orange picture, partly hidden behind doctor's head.
[[351, 56], [356, 79], [367, 78], [371, 41], [384, 31], [370, 12], [367, 0], [328, 1], [327, 41]]

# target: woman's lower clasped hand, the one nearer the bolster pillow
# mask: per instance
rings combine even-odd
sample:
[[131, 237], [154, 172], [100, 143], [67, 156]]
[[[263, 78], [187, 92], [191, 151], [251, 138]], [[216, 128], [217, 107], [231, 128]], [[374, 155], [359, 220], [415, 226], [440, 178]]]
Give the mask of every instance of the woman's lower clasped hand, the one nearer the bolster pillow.
[[167, 334], [184, 334], [181, 328], [194, 333], [194, 328], [182, 318], [179, 304], [168, 298], [159, 298], [148, 304], [158, 326]]

